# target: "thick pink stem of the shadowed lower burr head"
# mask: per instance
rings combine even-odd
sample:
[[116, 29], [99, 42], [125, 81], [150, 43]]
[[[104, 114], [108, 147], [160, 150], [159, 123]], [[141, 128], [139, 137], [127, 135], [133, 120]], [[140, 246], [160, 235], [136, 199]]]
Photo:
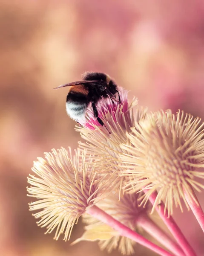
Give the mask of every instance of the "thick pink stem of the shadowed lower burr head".
[[160, 227], [158, 227], [147, 215], [140, 215], [137, 218], [137, 225], [163, 244], [176, 256], [185, 256], [184, 252]]

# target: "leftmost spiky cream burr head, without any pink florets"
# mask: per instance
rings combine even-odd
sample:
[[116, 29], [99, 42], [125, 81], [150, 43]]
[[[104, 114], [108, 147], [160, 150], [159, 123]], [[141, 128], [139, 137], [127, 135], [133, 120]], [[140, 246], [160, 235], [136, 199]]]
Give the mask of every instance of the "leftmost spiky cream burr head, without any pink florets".
[[86, 152], [78, 149], [72, 157], [70, 148], [53, 149], [52, 153], [45, 153], [45, 159], [34, 162], [32, 171], [37, 176], [29, 175], [31, 186], [27, 189], [29, 196], [38, 200], [29, 207], [38, 211], [34, 217], [40, 218], [37, 224], [46, 227], [46, 233], [56, 230], [54, 239], [62, 233], [64, 240], [69, 239], [78, 218], [100, 196], [96, 185], [100, 177], [94, 168]]

